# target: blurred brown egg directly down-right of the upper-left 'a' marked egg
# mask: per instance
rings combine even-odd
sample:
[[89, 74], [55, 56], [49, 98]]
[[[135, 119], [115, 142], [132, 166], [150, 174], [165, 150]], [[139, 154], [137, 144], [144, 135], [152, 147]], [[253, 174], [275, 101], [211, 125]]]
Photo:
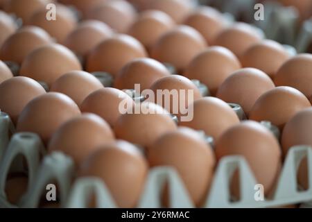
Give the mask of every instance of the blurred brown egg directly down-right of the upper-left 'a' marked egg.
[[[113, 31], [107, 24], [96, 20], [85, 20], [67, 35], [64, 46], [85, 57], [95, 46], [112, 35]], [[85, 44], [86, 42], [88, 44]]]

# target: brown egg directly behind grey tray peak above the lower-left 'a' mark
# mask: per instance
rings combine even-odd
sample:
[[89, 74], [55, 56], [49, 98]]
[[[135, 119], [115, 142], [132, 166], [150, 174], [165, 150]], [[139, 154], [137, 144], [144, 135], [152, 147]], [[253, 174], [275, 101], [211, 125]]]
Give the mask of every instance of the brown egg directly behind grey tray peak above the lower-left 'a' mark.
[[96, 114], [82, 114], [64, 122], [52, 135], [48, 150], [62, 151], [73, 158], [76, 166], [98, 146], [114, 142], [108, 123]]

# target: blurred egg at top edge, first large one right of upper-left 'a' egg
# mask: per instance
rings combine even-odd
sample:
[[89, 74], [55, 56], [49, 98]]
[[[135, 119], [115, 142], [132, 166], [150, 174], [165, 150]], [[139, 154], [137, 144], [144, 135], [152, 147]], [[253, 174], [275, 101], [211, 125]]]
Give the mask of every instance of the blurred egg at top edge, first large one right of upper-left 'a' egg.
[[100, 20], [118, 33], [125, 33], [136, 18], [135, 8], [123, 0], [106, 1], [89, 10], [89, 19]]

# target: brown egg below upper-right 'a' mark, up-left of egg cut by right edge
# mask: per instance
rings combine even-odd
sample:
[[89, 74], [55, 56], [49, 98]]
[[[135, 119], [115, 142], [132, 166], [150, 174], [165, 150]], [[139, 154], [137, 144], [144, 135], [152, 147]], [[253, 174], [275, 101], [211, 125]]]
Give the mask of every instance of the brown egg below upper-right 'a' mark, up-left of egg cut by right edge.
[[278, 42], [263, 40], [250, 46], [241, 56], [243, 67], [254, 67], [274, 78], [277, 70], [289, 58], [289, 54]]

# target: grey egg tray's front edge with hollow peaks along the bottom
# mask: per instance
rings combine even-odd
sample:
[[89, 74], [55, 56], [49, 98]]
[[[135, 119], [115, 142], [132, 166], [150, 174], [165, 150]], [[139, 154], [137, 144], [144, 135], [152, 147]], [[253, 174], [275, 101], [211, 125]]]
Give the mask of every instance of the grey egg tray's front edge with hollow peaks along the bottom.
[[[51, 153], [45, 155], [40, 161], [40, 156], [45, 154], [45, 149], [38, 135], [16, 133], [9, 141], [11, 124], [8, 115], [0, 113], [0, 153], [3, 153], [0, 162], [0, 207], [37, 207], [43, 192], [46, 191], [46, 185], [51, 181], [58, 182], [60, 207], [87, 207], [92, 194], [96, 194], [97, 207], [116, 207], [105, 182], [98, 178], [78, 178], [71, 185], [75, 170], [73, 161], [67, 155]], [[28, 164], [28, 189], [17, 205], [12, 205], [6, 200], [6, 178], [10, 171], [25, 170], [25, 166], [21, 164], [21, 156]], [[298, 191], [297, 169], [304, 157], [308, 161], [309, 189]], [[231, 202], [229, 182], [236, 169], [239, 169], [241, 175], [241, 200]], [[168, 182], [170, 207], [194, 207], [180, 176], [171, 167], [156, 167], [150, 170], [138, 207], [163, 207], [160, 197], [166, 182]], [[256, 184], [244, 157], [238, 155], [224, 157], [216, 168], [211, 189], [202, 207], [277, 207], [311, 202], [312, 148], [295, 146], [290, 149], [272, 199], [254, 200]], [[309, 207], [309, 204], [306, 207]]]

